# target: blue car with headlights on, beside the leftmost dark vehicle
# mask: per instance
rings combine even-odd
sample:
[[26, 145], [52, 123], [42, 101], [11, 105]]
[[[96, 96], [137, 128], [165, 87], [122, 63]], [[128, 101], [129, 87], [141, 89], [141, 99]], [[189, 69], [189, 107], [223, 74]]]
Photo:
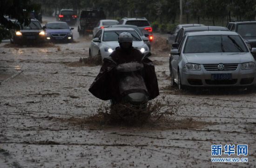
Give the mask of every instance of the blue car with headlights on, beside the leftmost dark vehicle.
[[66, 22], [48, 22], [44, 27], [46, 40], [52, 42], [71, 42], [73, 34]]

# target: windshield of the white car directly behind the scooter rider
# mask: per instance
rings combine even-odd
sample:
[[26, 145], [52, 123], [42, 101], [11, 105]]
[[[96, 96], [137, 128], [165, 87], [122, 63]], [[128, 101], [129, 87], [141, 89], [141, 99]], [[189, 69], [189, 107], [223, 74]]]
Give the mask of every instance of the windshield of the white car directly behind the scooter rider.
[[129, 32], [133, 36], [134, 41], [141, 41], [140, 36], [135, 30], [113, 30], [113, 31], [104, 31], [103, 41], [118, 41], [119, 34], [121, 32]]

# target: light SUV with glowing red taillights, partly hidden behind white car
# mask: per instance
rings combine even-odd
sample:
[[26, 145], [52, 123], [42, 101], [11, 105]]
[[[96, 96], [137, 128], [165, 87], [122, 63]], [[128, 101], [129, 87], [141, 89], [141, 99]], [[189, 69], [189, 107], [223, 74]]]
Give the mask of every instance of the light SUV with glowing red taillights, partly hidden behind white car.
[[153, 29], [146, 18], [122, 18], [119, 25], [134, 25], [138, 26], [143, 34], [148, 34], [149, 41], [153, 41]]

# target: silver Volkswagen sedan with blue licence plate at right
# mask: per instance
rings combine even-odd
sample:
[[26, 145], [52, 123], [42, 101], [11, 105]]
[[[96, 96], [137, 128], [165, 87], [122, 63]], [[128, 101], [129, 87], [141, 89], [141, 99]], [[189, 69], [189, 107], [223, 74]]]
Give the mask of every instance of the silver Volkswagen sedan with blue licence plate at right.
[[[251, 52], [256, 52], [252, 48]], [[245, 86], [256, 84], [256, 61], [236, 32], [190, 32], [171, 50], [171, 84]]]

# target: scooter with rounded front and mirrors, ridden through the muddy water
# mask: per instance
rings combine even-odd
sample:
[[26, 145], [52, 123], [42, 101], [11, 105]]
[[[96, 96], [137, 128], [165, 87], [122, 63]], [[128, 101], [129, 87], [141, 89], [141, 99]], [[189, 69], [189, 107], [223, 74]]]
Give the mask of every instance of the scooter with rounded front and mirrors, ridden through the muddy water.
[[[150, 52], [144, 53], [141, 62], [150, 55]], [[111, 57], [106, 57], [103, 61], [108, 61], [116, 65], [116, 78], [119, 79], [121, 100], [119, 102], [114, 99], [109, 100], [110, 104], [128, 103], [135, 109], [145, 109], [148, 104], [149, 96], [143, 79], [145, 73], [143, 63], [131, 62], [117, 65]]]

